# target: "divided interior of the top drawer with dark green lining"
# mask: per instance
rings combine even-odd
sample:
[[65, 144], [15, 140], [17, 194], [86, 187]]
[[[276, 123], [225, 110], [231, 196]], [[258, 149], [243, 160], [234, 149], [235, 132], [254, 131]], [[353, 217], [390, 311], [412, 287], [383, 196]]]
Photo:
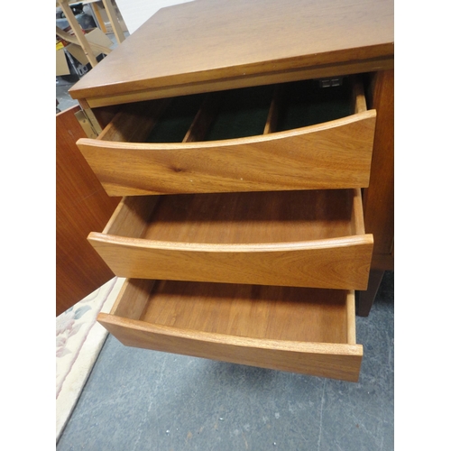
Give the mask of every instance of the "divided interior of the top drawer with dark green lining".
[[99, 139], [186, 143], [243, 138], [353, 115], [357, 104], [360, 111], [366, 109], [362, 99], [362, 83], [345, 77], [337, 87], [302, 80], [144, 101], [124, 106]]

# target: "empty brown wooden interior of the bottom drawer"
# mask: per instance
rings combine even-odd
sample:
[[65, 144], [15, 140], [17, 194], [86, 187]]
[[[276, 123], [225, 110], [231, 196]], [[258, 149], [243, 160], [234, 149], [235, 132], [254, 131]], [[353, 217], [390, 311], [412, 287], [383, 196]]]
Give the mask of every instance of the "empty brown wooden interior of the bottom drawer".
[[130, 291], [140, 293], [136, 303], [141, 308], [132, 313], [129, 305], [120, 303], [115, 315], [231, 336], [355, 343], [352, 306], [348, 305], [354, 297], [348, 297], [345, 290], [189, 281], [129, 282]]

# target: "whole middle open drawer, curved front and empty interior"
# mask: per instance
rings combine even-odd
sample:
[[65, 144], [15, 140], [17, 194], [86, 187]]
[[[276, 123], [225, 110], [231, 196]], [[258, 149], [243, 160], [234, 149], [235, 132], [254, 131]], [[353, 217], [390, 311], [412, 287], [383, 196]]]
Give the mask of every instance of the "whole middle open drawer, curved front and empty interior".
[[117, 276], [365, 290], [360, 189], [124, 198], [89, 242]]

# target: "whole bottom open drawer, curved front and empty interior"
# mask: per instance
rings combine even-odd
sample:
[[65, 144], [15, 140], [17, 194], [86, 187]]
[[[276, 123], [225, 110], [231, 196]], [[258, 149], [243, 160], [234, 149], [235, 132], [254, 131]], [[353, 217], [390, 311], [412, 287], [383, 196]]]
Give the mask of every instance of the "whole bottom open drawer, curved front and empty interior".
[[124, 282], [98, 321], [124, 345], [357, 382], [354, 291]]

